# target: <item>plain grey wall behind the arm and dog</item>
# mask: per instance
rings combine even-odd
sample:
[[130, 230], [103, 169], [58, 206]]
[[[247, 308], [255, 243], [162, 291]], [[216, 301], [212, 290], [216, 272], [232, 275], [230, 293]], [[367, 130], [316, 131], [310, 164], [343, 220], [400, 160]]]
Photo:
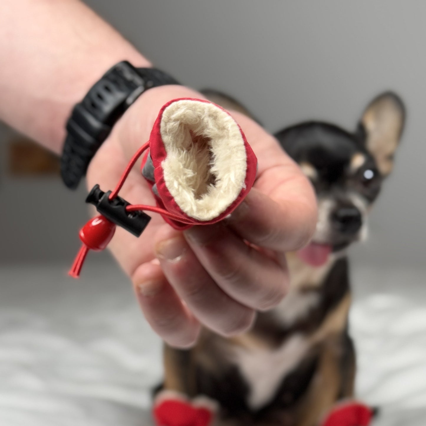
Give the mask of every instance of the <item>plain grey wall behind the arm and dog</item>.
[[[370, 241], [353, 256], [357, 265], [424, 268], [426, 2], [86, 3], [158, 67], [190, 86], [230, 93], [271, 132], [312, 118], [353, 129], [374, 95], [399, 93], [408, 110], [403, 143], [371, 213]], [[86, 216], [82, 190], [3, 173], [0, 197], [1, 261], [69, 261], [75, 254]]]

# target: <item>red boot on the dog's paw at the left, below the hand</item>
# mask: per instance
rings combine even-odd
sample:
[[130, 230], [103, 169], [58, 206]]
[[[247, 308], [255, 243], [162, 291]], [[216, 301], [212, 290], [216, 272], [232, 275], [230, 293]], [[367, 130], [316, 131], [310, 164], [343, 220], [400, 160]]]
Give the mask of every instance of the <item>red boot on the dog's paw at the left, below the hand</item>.
[[206, 397], [191, 401], [173, 391], [161, 391], [155, 398], [153, 417], [157, 426], [209, 426], [218, 405]]

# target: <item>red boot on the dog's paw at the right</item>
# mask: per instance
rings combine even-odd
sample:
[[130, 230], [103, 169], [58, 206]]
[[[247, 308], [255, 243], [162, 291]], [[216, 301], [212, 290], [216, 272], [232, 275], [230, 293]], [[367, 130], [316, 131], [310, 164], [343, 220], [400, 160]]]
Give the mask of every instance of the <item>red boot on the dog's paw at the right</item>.
[[334, 406], [320, 426], [368, 426], [374, 415], [374, 409], [357, 401], [346, 401]]

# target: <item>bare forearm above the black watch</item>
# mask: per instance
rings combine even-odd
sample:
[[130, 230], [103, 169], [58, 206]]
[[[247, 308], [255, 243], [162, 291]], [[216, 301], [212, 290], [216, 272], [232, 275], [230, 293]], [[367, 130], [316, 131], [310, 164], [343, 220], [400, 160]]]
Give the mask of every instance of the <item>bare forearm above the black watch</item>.
[[78, 0], [3, 0], [0, 120], [59, 153], [72, 107], [112, 65], [150, 66]]

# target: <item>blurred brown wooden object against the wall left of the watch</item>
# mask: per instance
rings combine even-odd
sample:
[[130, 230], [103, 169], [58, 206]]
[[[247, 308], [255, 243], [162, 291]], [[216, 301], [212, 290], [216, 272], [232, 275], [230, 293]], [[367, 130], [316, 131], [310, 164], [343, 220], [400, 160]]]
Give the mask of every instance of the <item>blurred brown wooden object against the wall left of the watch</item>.
[[59, 176], [59, 158], [50, 151], [23, 137], [8, 142], [9, 176]]

